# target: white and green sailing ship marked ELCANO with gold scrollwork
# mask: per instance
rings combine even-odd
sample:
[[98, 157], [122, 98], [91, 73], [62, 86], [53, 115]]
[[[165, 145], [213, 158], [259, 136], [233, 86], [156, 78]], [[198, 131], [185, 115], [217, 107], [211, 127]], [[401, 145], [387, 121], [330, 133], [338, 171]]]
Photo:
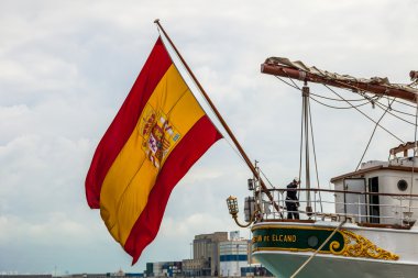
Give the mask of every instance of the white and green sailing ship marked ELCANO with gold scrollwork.
[[[298, 184], [304, 171], [305, 176], [300, 186], [276, 188], [266, 185], [255, 164], [248, 181], [252, 194], [245, 198], [245, 223], [238, 218], [237, 198], [227, 199], [237, 224], [252, 231], [253, 258], [279, 278], [417, 277], [418, 113], [408, 114], [414, 119], [409, 120], [414, 140], [388, 146], [387, 160], [361, 160], [354, 170], [336, 173], [330, 178], [333, 188], [312, 186], [316, 154], [309, 101], [318, 94], [309, 85], [323, 85], [360, 112], [360, 104], [345, 100], [337, 90], [348, 90], [365, 103], [380, 105], [383, 115], [405, 120], [402, 115], [406, 113], [394, 107], [397, 103], [418, 111], [418, 71], [410, 71], [410, 84], [400, 85], [387, 78], [330, 73], [282, 57], [267, 58], [261, 71], [301, 92], [300, 160], [305, 165], [294, 182]], [[385, 130], [380, 120], [367, 120], [375, 129]], [[289, 198], [290, 192], [298, 198]], [[331, 205], [328, 211], [326, 203]]]

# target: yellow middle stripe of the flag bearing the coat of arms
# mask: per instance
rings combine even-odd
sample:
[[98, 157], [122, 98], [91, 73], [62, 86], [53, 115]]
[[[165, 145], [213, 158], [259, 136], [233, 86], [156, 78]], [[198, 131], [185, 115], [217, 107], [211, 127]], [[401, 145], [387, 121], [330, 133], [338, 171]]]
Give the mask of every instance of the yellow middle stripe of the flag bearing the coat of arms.
[[121, 245], [145, 208], [169, 153], [202, 115], [205, 112], [172, 65], [150, 97], [101, 188], [101, 216]]

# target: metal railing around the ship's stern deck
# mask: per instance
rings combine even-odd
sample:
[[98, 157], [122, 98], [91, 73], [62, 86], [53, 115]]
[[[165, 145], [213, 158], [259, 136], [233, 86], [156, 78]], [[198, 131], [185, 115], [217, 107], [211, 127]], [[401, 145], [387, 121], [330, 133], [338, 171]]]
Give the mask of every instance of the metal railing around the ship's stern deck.
[[[348, 219], [353, 223], [365, 224], [392, 224], [410, 226], [418, 216], [418, 194], [359, 192], [331, 189], [290, 189], [298, 191], [297, 201], [286, 200], [289, 189], [268, 189], [273, 201], [278, 203], [279, 211], [273, 207], [273, 201], [261, 194], [261, 213], [264, 220], [279, 220], [295, 216], [302, 220], [342, 220]], [[309, 201], [307, 196], [310, 194]], [[350, 194], [351, 201], [345, 201]], [[353, 198], [355, 196], [356, 198]], [[378, 197], [378, 203], [371, 199]], [[297, 210], [288, 210], [292, 205], [286, 202], [298, 203]], [[310, 207], [311, 209], [308, 209]], [[292, 214], [292, 215], [290, 215]]]

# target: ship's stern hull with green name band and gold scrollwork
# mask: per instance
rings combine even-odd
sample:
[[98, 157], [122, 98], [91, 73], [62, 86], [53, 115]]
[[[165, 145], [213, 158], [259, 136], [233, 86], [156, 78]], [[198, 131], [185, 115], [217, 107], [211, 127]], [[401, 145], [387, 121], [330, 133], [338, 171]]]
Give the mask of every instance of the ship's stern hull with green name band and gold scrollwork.
[[[253, 227], [253, 258], [276, 277], [288, 278], [316, 249], [309, 248], [306, 238], [323, 231], [331, 233], [338, 225], [339, 222], [257, 223]], [[417, 229], [362, 227], [346, 223], [339, 231], [342, 235], [350, 235], [350, 241], [345, 236], [343, 241], [345, 243], [340, 241], [345, 246], [339, 246], [338, 251], [331, 248], [318, 253], [297, 275], [298, 278], [418, 277]], [[287, 236], [280, 236], [280, 233]], [[267, 237], [262, 238], [260, 235], [270, 236], [268, 241]], [[290, 243], [280, 242], [285, 238]], [[321, 240], [318, 245], [320, 244]], [[346, 252], [349, 249], [353, 252]]]

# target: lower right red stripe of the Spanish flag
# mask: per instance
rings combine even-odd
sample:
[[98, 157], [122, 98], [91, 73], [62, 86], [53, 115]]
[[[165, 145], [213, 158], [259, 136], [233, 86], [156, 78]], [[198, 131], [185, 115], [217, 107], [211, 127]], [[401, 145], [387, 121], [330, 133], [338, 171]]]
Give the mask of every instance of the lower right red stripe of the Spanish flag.
[[124, 249], [136, 263], [142, 251], [155, 238], [169, 194], [176, 184], [206, 151], [222, 135], [204, 115], [173, 149], [148, 196], [146, 207], [136, 220], [124, 244]]

